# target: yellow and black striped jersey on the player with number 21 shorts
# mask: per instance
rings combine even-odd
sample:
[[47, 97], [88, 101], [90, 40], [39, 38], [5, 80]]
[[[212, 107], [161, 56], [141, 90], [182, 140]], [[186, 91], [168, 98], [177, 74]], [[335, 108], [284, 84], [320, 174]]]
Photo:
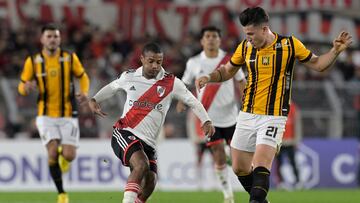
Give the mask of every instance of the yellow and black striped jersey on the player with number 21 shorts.
[[232, 65], [246, 64], [249, 73], [243, 97], [244, 112], [287, 116], [295, 59], [300, 62], [311, 59], [311, 51], [300, 40], [274, 34], [274, 42], [259, 50], [243, 40], [231, 57]]

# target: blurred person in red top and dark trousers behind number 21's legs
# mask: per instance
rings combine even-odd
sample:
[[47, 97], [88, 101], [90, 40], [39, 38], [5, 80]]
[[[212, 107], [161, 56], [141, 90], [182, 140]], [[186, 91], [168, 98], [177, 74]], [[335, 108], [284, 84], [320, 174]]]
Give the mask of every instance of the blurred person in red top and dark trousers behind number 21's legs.
[[[297, 144], [301, 139], [300, 137], [301, 124], [299, 123], [301, 122], [301, 118], [299, 115], [300, 112], [298, 111], [298, 107], [293, 101], [290, 103], [289, 109], [290, 111], [285, 125], [281, 150], [276, 156], [276, 161], [277, 161], [276, 173], [278, 178], [277, 184], [279, 188], [283, 188], [283, 189], [293, 189], [293, 188], [299, 189], [301, 188], [301, 182], [300, 182], [299, 170], [295, 160], [295, 153], [296, 153]], [[284, 176], [282, 175], [281, 172], [281, 166], [283, 166], [284, 164], [285, 156], [289, 160], [289, 164], [291, 166], [295, 178], [291, 186], [289, 186], [284, 182]]]

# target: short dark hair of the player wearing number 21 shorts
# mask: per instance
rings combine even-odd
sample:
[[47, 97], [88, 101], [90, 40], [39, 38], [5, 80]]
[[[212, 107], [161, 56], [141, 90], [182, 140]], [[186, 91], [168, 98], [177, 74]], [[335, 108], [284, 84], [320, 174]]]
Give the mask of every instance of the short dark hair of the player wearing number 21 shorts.
[[269, 22], [269, 15], [261, 7], [247, 8], [239, 15], [239, 20], [242, 26], [260, 25]]

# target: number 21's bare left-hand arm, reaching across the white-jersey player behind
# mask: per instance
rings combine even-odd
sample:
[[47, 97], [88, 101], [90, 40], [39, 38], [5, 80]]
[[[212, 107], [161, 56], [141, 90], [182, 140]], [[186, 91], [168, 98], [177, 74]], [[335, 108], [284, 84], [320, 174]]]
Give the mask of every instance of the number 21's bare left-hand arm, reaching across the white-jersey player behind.
[[230, 62], [227, 62], [225, 65], [222, 65], [219, 69], [216, 69], [207, 76], [202, 76], [195, 81], [195, 86], [197, 90], [203, 88], [209, 82], [223, 82], [232, 78], [240, 67], [231, 65]]

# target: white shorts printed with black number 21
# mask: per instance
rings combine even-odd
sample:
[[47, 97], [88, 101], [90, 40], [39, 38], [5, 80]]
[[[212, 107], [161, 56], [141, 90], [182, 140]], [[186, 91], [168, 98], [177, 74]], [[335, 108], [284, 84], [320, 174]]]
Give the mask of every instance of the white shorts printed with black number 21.
[[255, 152], [258, 144], [266, 144], [279, 150], [286, 120], [286, 116], [268, 116], [240, 111], [230, 145], [247, 152]]

